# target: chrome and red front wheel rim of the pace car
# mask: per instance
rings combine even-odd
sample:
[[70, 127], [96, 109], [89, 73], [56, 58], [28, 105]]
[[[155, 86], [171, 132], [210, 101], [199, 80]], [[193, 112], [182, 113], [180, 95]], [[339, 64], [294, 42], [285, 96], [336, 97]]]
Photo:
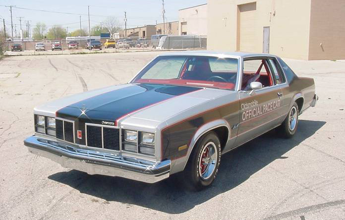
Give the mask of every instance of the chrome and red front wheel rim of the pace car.
[[207, 143], [201, 150], [199, 175], [202, 179], [210, 178], [216, 169], [217, 147], [213, 142]]

